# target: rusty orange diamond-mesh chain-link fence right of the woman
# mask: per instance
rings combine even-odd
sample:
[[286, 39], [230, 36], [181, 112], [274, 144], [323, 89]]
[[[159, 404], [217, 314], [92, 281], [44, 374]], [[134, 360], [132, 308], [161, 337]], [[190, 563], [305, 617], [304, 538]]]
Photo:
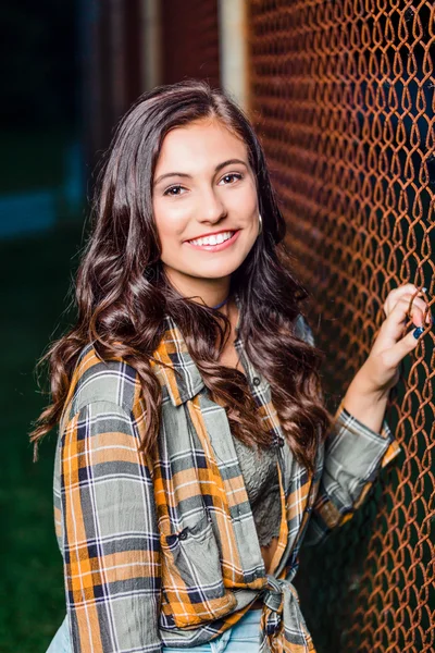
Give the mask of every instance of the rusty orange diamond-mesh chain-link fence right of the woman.
[[[248, 11], [250, 113], [312, 289], [334, 409], [391, 288], [425, 286], [435, 313], [435, 8], [251, 0]], [[302, 553], [318, 653], [435, 650], [433, 389], [427, 328], [387, 409], [400, 456], [351, 521]]]

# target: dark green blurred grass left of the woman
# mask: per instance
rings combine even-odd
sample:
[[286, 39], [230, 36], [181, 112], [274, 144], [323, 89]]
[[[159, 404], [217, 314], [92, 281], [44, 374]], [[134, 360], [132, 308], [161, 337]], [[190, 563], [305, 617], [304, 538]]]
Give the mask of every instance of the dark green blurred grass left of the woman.
[[[52, 473], [55, 433], [33, 463], [28, 432], [47, 402], [35, 365], [55, 330], [66, 326], [66, 294], [80, 230], [63, 227], [0, 243], [3, 280], [2, 473], [0, 510], [1, 653], [46, 651], [65, 612], [62, 558], [54, 535]], [[47, 386], [47, 385], [46, 385]]]

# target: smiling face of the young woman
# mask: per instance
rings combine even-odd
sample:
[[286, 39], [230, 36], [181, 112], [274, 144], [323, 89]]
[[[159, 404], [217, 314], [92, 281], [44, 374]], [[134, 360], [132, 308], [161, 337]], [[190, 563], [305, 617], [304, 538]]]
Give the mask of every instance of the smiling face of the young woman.
[[157, 162], [152, 205], [161, 260], [175, 286], [228, 281], [259, 232], [245, 143], [217, 120], [172, 130]]

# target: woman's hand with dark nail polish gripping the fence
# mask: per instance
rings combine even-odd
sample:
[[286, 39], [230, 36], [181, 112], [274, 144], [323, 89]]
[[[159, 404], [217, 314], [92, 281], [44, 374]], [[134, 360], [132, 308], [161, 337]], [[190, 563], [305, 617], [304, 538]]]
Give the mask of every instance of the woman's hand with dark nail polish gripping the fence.
[[[386, 319], [374, 341], [369, 358], [360, 368], [358, 375], [361, 386], [368, 393], [388, 395], [399, 380], [399, 365], [419, 343], [424, 328], [432, 324], [432, 315], [427, 310], [424, 292], [419, 292], [412, 283], [406, 283], [388, 294], [383, 306]], [[402, 337], [408, 320], [412, 329]], [[419, 334], [419, 335], [418, 335]]]

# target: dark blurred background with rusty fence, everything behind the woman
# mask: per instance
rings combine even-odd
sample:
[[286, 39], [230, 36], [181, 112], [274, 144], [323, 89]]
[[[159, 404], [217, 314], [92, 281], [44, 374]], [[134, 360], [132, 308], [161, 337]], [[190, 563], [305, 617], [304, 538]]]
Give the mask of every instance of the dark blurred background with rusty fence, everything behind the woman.
[[[45, 652], [65, 611], [52, 520], [55, 433], [35, 365], [74, 320], [69, 291], [95, 167], [128, 106], [208, 79], [264, 145], [333, 410], [388, 292], [434, 293], [434, 3], [424, 0], [5, 0], [1, 10], [3, 416], [0, 651]], [[332, 346], [333, 345], [333, 346]], [[434, 334], [391, 393], [402, 452], [358, 516], [301, 556], [319, 653], [435, 649]], [[47, 389], [47, 379], [42, 379]]]

